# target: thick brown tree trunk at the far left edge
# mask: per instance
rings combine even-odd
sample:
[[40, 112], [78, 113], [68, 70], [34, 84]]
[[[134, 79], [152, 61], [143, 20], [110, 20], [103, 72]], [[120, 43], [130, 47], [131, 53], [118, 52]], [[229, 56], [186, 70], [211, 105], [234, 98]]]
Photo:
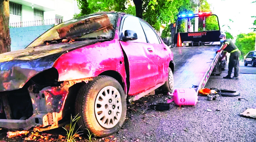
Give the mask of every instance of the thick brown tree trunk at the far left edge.
[[0, 0], [0, 53], [11, 51], [9, 0]]

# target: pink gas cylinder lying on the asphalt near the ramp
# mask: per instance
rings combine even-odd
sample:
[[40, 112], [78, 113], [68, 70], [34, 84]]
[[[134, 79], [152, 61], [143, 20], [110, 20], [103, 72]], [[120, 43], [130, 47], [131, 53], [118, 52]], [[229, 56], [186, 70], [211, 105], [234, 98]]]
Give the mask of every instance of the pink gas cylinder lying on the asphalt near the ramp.
[[174, 101], [176, 105], [196, 105], [198, 96], [196, 90], [192, 88], [175, 89], [173, 92], [173, 98], [168, 100], [168, 103]]

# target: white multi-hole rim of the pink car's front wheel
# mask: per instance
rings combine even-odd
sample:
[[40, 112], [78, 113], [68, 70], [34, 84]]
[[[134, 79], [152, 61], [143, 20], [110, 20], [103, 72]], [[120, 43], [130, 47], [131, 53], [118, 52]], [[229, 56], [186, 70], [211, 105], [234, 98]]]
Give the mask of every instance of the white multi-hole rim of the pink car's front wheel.
[[113, 86], [106, 86], [100, 90], [96, 97], [95, 116], [104, 128], [113, 128], [120, 120], [122, 114], [121, 95]]

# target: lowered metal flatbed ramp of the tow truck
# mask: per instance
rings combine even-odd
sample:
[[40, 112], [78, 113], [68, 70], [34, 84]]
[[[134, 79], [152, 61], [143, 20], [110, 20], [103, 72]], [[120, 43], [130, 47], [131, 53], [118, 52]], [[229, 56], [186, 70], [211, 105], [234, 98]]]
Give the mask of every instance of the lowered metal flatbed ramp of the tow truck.
[[196, 46], [171, 48], [174, 55], [174, 89], [204, 88], [220, 53], [215, 52], [220, 46]]

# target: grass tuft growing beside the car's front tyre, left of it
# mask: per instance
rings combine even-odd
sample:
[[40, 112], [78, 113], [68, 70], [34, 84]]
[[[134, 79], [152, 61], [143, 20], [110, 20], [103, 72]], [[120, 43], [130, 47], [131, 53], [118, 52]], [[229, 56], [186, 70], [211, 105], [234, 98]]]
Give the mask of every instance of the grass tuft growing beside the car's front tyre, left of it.
[[[81, 127], [79, 127], [76, 131], [75, 131], [75, 127], [76, 127], [76, 122], [78, 121], [78, 119], [80, 118], [80, 116], [78, 117], [78, 114], [72, 118], [71, 115], [71, 119], [70, 119], [70, 128], [69, 130], [65, 129], [64, 127], [62, 127], [63, 129], [65, 129], [67, 131], [67, 138], [65, 141], [67, 142], [76, 142], [75, 138], [79, 136], [78, 134], [78, 129]], [[75, 131], [75, 132], [74, 132]]]

